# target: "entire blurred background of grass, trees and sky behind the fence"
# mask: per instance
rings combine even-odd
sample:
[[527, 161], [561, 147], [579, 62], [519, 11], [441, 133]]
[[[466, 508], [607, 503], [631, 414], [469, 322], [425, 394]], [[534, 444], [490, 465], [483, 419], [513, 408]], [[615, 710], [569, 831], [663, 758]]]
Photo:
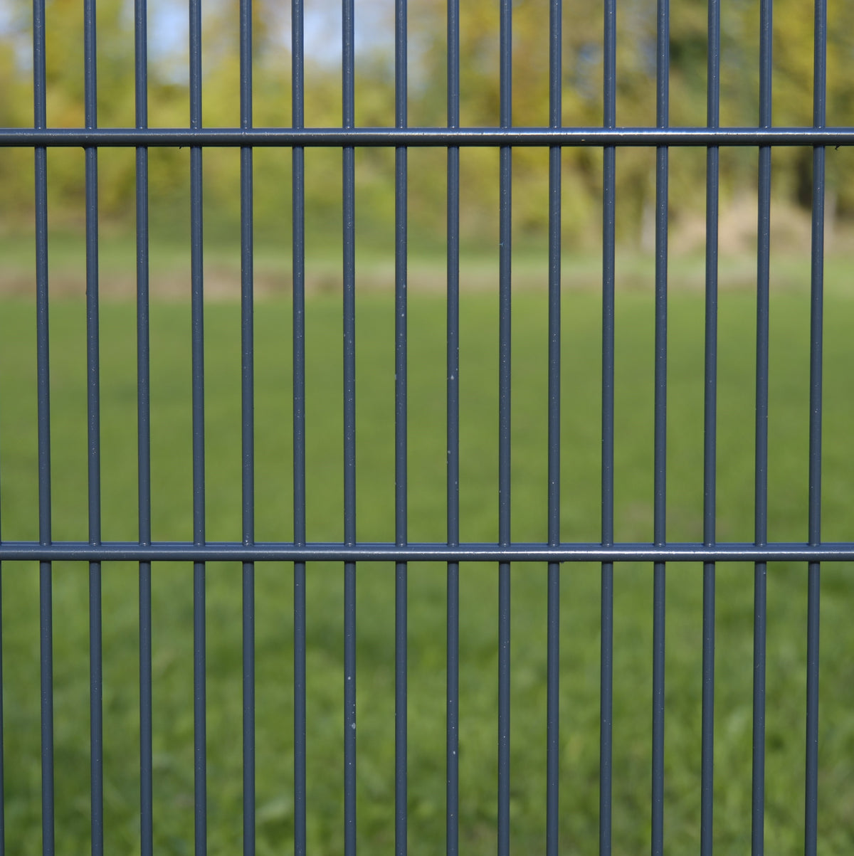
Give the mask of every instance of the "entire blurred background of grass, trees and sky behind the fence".
[[[461, 121], [498, 119], [498, 8], [461, 4]], [[83, 122], [82, 7], [46, 3], [48, 124]], [[287, 10], [255, 4], [254, 123], [290, 122]], [[391, 4], [359, 3], [356, 122], [394, 124]], [[674, 4], [671, 122], [703, 125], [706, 4]], [[446, 119], [445, 7], [413, 0], [409, 121]], [[548, 119], [545, 0], [513, 4], [513, 122]], [[238, 122], [237, 4], [205, 3], [204, 121]], [[828, 125], [851, 116], [854, 7], [828, 3]], [[186, 9], [150, 5], [152, 127], [187, 127]], [[774, 3], [774, 124], [812, 122], [812, 10]], [[341, 116], [340, 20], [306, 9], [305, 122]], [[566, 9], [566, 126], [602, 122], [602, 9]], [[729, 4], [721, 28], [721, 123], [756, 124], [756, 3]], [[620, 3], [617, 121], [655, 122], [655, 17]], [[98, 123], [133, 125], [133, 15], [98, 3]], [[33, 121], [32, 11], [0, 5], [0, 126]], [[768, 537], [803, 541], [808, 498], [810, 193], [808, 147], [772, 152]], [[191, 538], [189, 156], [151, 149], [152, 527]], [[409, 535], [445, 538], [445, 168], [441, 150], [409, 152]], [[460, 515], [464, 540], [497, 537], [497, 153], [460, 152]], [[86, 310], [83, 153], [50, 150], [50, 384], [53, 536], [86, 539]], [[341, 154], [306, 160], [308, 536], [340, 539]], [[562, 154], [563, 343], [561, 537], [600, 538], [602, 155]], [[98, 152], [104, 539], [137, 535], [135, 190], [132, 150]], [[667, 537], [702, 538], [705, 154], [670, 152]], [[292, 538], [291, 157], [257, 150], [255, 170], [256, 535]], [[653, 217], [655, 153], [617, 153], [615, 535], [652, 534]], [[356, 152], [358, 536], [394, 538], [394, 156]], [[239, 154], [207, 150], [205, 395], [208, 538], [240, 538]], [[546, 537], [548, 154], [513, 152], [513, 538]], [[3, 538], [38, 537], [33, 153], [0, 150], [0, 505]], [[851, 540], [851, 324], [854, 159], [827, 150], [822, 537]], [[753, 539], [756, 354], [756, 151], [721, 151], [721, 334], [718, 511], [721, 540]], [[460, 570], [460, 846], [495, 850], [497, 573]], [[750, 847], [752, 566], [717, 570], [715, 849]], [[667, 572], [665, 849], [697, 849], [700, 812], [702, 568]], [[512, 794], [514, 851], [543, 849], [546, 568], [513, 566]], [[258, 853], [288, 853], [293, 836], [293, 571], [263, 564], [257, 581]], [[394, 817], [394, 580], [359, 565], [359, 846], [391, 853]], [[614, 853], [649, 847], [652, 568], [615, 570]], [[56, 852], [89, 844], [87, 569], [54, 566]], [[598, 829], [598, 566], [561, 572], [560, 840], [596, 853]], [[210, 853], [241, 835], [240, 566], [207, 570]], [[822, 570], [819, 849], [854, 845], [851, 804], [850, 568]], [[157, 853], [193, 850], [192, 570], [152, 569], [154, 834]], [[139, 850], [136, 568], [104, 566], [105, 849]], [[39, 579], [3, 565], [5, 835], [10, 853], [40, 852]], [[445, 568], [409, 568], [409, 835], [413, 854], [444, 841]], [[308, 817], [312, 853], [341, 853], [341, 568], [307, 572]], [[803, 848], [806, 568], [768, 568], [766, 847]]]

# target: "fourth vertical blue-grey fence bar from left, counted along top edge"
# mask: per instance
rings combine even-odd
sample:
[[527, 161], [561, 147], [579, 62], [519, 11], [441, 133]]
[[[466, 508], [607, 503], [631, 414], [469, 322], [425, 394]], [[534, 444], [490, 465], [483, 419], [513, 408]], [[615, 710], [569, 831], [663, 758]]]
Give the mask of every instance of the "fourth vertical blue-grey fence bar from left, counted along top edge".
[[[202, 9], [190, 0], [190, 127], [202, 127]], [[193, 353], [193, 544], [205, 543], [205, 289], [202, 150], [190, 148], [190, 277]], [[205, 562], [193, 562], [193, 755], [195, 853], [207, 853]]]

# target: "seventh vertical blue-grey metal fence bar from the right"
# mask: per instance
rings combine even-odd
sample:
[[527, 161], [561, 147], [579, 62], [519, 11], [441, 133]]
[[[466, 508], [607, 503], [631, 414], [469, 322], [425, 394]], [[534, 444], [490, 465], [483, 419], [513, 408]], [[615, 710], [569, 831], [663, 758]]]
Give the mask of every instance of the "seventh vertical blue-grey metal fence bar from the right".
[[[513, 10], [501, 0], [501, 128], [513, 124]], [[499, 154], [498, 237], [498, 540], [510, 545], [510, 311], [512, 240], [512, 150]], [[510, 562], [498, 566], [498, 853], [510, 852]]]

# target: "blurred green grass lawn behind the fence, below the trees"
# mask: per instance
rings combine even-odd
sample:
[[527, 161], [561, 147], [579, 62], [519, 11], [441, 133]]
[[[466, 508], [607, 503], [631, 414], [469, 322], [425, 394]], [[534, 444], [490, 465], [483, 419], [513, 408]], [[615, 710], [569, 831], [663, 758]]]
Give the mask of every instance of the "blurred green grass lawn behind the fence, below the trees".
[[[188, 289], [187, 289], [188, 290]], [[394, 539], [394, 305], [365, 293], [357, 319], [357, 479], [360, 539]], [[804, 541], [807, 524], [809, 295], [774, 291], [771, 319], [769, 538]], [[460, 513], [463, 540], [497, 537], [497, 300], [461, 301]], [[718, 537], [753, 538], [756, 300], [721, 294]], [[822, 534], [852, 539], [854, 296], [826, 300]], [[667, 537], [702, 538], [703, 297], [669, 302]], [[0, 500], [3, 538], [38, 537], [32, 300], [0, 301]], [[53, 536], [86, 540], [86, 316], [81, 298], [51, 306]], [[137, 533], [135, 310], [101, 306], [104, 540]], [[292, 538], [291, 319], [288, 300], [256, 315], [256, 537]], [[513, 538], [546, 537], [547, 300], [513, 302]], [[615, 528], [651, 540], [653, 298], [617, 300]], [[409, 535], [445, 538], [445, 303], [412, 294], [409, 314]], [[240, 538], [240, 309], [206, 306], [207, 534]], [[307, 305], [308, 537], [341, 539], [341, 303]], [[153, 536], [192, 536], [190, 317], [187, 294], [151, 307]], [[566, 291], [563, 304], [561, 535], [600, 538], [601, 304]], [[667, 853], [697, 850], [700, 814], [702, 568], [667, 579]], [[359, 844], [394, 847], [394, 575], [359, 566]], [[308, 835], [311, 853], [343, 849], [342, 571], [307, 572]], [[514, 565], [511, 843], [542, 852], [545, 826], [546, 568]], [[57, 853], [89, 835], [88, 606], [85, 565], [54, 566]], [[563, 566], [561, 587], [560, 835], [566, 852], [596, 853], [599, 597], [595, 565]], [[442, 851], [445, 739], [445, 568], [409, 568], [409, 835], [413, 854]], [[752, 566], [717, 570], [715, 847], [750, 846]], [[240, 566], [207, 571], [208, 788], [211, 853], [239, 852]], [[614, 853], [649, 847], [652, 568], [614, 571]], [[192, 568], [152, 570], [154, 833], [157, 853], [193, 852]], [[293, 578], [256, 570], [258, 853], [290, 852], [293, 834]], [[138, 851], [138, 588], [130, 564], [104, 566], [104, 802], [108, 853]], [[854, 847], [854, 580], [822, 572], [819, 849]], [[806, 568], [768, 568], [768, 853], [803, 847]], [[460, 568], [460, 846], [495, 850], [497, 569]], [[40, 852], [39, 574], [3, 567], [6, 843]]]

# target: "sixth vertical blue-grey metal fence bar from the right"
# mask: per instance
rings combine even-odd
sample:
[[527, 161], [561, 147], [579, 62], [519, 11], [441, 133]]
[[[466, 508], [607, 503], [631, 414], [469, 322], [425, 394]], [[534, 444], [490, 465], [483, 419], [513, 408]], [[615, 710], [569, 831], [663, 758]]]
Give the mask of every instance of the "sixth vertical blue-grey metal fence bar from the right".
[[[549, 15], [549, 127], [560, 128], [562, 0]], [[549, 544], [560, 544], [560, 147], [549, 149]], [[546, 698], [546, 853], [557, 856], [560, 820], [560, 564], [549, 562]]]

